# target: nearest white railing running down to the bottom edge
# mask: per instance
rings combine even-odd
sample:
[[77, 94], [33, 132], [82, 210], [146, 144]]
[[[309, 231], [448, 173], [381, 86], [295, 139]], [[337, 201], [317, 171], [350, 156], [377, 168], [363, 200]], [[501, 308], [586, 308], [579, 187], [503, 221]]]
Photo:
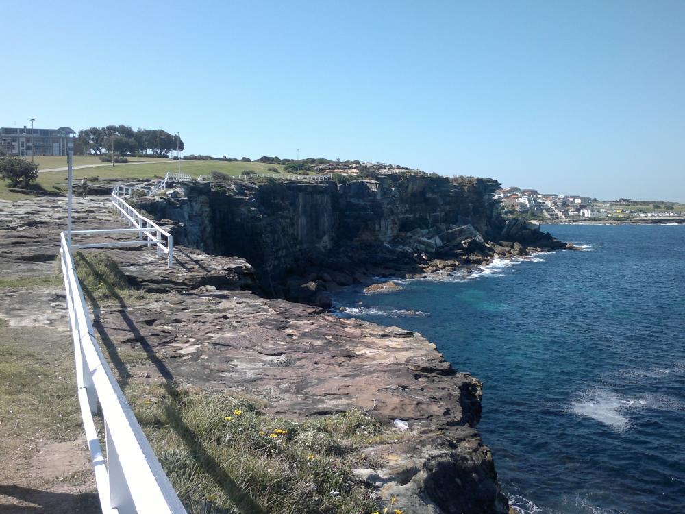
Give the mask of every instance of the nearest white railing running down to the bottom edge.
[[[90, 312], [71, 256], [73, 246], [67, 232], [62, 232], [60, 239], [79, 404], [102, 511], [106, 514], [186, 513], [95, 340]], [[104, 456], [92, 417], [98, 405], [104, 423]]]

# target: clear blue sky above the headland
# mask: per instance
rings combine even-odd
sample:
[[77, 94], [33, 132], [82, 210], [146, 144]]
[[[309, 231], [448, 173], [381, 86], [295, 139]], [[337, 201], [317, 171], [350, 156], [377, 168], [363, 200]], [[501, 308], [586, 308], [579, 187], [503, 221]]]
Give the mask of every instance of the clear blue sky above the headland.
[[685, 201], [685, 1], [0, 0], [0, 125]]

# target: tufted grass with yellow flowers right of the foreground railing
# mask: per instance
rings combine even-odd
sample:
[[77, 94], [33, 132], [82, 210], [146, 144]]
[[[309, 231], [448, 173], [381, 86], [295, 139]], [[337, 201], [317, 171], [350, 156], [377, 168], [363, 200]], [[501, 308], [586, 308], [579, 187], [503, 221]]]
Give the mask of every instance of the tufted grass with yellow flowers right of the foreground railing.
[[191, 514], [381, 511], [356, 480], [359, 450], [380, 433], [363, 411], [273, 418], [245, 395], [130, 384], [126, 395]]

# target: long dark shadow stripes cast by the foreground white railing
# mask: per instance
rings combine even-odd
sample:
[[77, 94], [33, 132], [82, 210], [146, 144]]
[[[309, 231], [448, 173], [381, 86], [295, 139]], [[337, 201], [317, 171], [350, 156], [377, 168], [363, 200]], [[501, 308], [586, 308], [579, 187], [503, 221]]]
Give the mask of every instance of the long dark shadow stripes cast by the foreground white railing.
[[[117, 312], [121, 316], [121, 319], [127, 326], [128, 330], [130, 330], [130, 332], [133, 334], [136, 342], [140, 343], [140, 347], [145, 352], [150, 362], [155, 366], [155, 368], [157, 368], [160, 376], [164, 378], [164, 389], [166, 394], [169, 395], [169, 397], [171, 397], [173, 400], [179, 400], [179, 391], [171, 370], [166, 366], [166, 364], [164, 364], [162, 359], [159, 358], [149, 341], [147, 341], [145, 336], [143, 336], [140, 330], [138, 330], [136, 323], [128, 314], [126, 302], [123, 297], [121, 297], [119, 292], [116, 291], [113, 284], [94, 266], [92, 266], [88, 260], [82, 259], [82, 262], [84, 262], [90, 271], [100, 280], [101, 284], [105, 286], [105, 289], [107, 289], [108, 293], [112, 295], [117, 302], [119, 302], [119, 306], [121, 308]], [[97, 299], [92, 291], [89, 291], [86, 286], [82, 286], [82, 289], [84, 290], [84, 294], [88, 297], [88, 299], [90, 299], [90, 302], [92, 302], [92, 305], [99, 308]], [[123, 360], [121, 360], [119, 352], [116, 350], [116, 346], [114, 345], [110, 336], [107, 334], [107, 330], [102, 325], [101, 321], [98, 321], [97, 326], [94, 325], [94, 327], [97, 328], [98, 334], [101, 338], [100, 340], [105, 346], [105, 350], [108, 352], [108, 355], [112, 360], [112, 364], [119, 372], [119, 377], [121, 378], [121, 387], [125, 387], [125, 384], [129, 382], [129, 378], [131, 377], [126, 364], [123, 362]], [[216, 459], [214, 459], [206, 450], [203, 443], [199, 440], [199, 437], [197, 437], [197, 434], [195, 434], [192, 428], [190, 428], [183, 420], [181, 412], [177, 406], [171, 406], [167, 404], [166, 408], [164, 408], [164, 414], [171, 422], [173, 430], [175, 430], [179, 437], [181, 437], [190, 450], [190, 454], [197, 465], [199, 465], [199, 467], [203, 469], [203, 471], [210, 476], [212, 480], [214, 480], [217, 487], [221, 487], [221, 489], [223, 489], [225, 495], [227, 495], [228, 498], [231, 498], [232, 502], [234, 502], [236, 506], [242, 509], [242, 511], [246, 514], [266, 514], [266, 511], [264, 511], [264, 509], [262, 509], [262, 507], [251, 498], [249, 493], [246, 493], [240, 489], [240, 486], [238, 486], [235, 480], [233, 480], [233, 478], [231, 478], [231, 476], [225, 472], [221, 463], [216, 461]]]

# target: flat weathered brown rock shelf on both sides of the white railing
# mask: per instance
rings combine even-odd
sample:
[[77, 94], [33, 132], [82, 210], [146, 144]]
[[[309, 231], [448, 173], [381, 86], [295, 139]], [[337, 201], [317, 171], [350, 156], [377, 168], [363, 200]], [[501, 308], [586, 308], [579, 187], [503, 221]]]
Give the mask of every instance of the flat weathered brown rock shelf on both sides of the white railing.
[[[81, 202], [75, 228], [121, 226], [106, 197]], [[63, 199], [0, 204], [5, 275], [54, 270], [63, 206]], [[295, 419], [358, 407], [388, 426], [406, 420], [397, 442], [367, 450], [383, 465], [358, 470], [360, 479], [384, 498], [401, 498], [406, 513], [507, 512], [490, 451], [473, 428], [482, 386], [421, 334], [259, 297], [246, 290], [251, 267], [241, 258], [179, 247], [167, 270], [151, 248], [105, 251], [151, 293], [142, 304], [97, 309], [97, 337], [122, 380], [246, 391], [264, 398], [266, 411]], [[58, 289], [5, 293], [5, 317], [64, 328]], [[13, 306], [19, 296], [23, 305]], [[126, 367], [122, 352], [141, 358]]]

